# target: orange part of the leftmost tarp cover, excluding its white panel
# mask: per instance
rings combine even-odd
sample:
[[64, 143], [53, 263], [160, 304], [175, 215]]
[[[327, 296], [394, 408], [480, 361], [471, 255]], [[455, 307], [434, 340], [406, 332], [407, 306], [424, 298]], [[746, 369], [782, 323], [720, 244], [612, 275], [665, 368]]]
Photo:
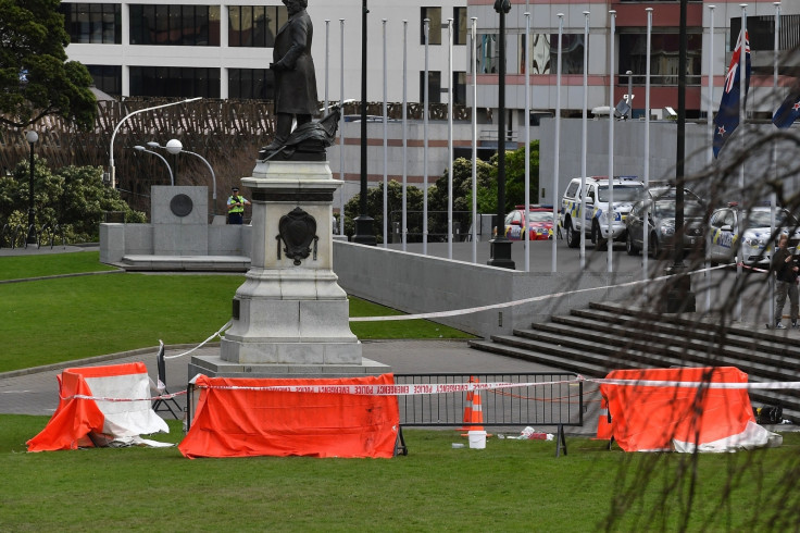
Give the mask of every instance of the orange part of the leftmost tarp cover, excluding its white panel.
[[[75, 399], [74, 395], [91, 396], [86, 379], [128, 374], [147, 375], [143, 362], [65, 369], [57, 376], [59, 407], [47, 426], [27, 442], [28, 451], [76, 449], [93, 446], [89, 433], [103, 433], [105, 416], [93, 400]], [[148, 402], [149, 405], [149, 402]]]

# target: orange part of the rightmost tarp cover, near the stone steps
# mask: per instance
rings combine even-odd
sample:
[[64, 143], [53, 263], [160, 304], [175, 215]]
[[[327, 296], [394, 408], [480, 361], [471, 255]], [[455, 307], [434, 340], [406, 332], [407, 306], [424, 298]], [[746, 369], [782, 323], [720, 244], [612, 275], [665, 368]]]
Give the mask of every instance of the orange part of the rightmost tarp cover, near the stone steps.
[[611, 413], [611, 434], [625, 451], [671, 449], [673, 439], [699, 446], [738, 435], [755, 421], [747, 389], [695, 385], [747, 383], [747, 374], [733, 367], [615, 370], [605, 379], [680, 382], [600, 385]]

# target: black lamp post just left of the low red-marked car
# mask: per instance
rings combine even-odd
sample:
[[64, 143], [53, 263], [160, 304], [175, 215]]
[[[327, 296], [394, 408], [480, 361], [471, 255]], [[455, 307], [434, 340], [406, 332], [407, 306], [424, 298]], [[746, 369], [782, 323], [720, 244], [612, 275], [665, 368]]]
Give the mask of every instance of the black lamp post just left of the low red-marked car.
[[[500, 67], [498, 80], [498, 134], [497, 134], [497, 235], [489, 241], [490, 258], [487, 264], [514, 270], [511, 259], [511, 240], [505, 238], [505, 14], [511, 11], [510, 0], [496, 0], [495, 11], [500, 14]], [[527, 230], [526, 230], [527, 231]]]

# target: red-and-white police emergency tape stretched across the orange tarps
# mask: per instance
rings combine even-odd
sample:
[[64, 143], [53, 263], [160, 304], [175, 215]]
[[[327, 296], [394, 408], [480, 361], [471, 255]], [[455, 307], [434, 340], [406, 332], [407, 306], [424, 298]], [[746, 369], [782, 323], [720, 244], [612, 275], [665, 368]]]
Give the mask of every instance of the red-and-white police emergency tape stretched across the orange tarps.
[[[200, 374], [198, 374], [200, 375]], [[197, 376], [195, 376], [197, 379]], [[193, 382], [195, 380], [192, 380]], [[198, 385], [197, 388], [214, 391], [254, 391], [254, 392], [279, 392], [279, 393], [305, 393], [305, 394], [348, 394], [358, 396], [423, 396], [434, 394], [474, 393], [480, 391], [495, 391], [518, 387], [540, 387], [553, 385], [577, 385], [579, 383], [593, 383], [597, 385], [636, 386], [636, 387], [682, 387], [682, 388], [721, 388], [721, 389], [800, 389], [800, 382], [761, 382], [761, 383], [720, 383], [704, 381], [658, 381], [658, 380], [607, 380], [590, 379], [577, 375], [574, 380], [559, 380], [549, 382], [486, 382], [486, 383], [424, 383], [424, 384], [382, 384], [382, 385]], [[114, 398], [107, 396], [91, 396], [76, 394], [62, 397], [68, 399], [89, 399], [95, 401], [154, 401], [158, 399], [171, 399], [187, 394], [187, 391], [152, 398]]]

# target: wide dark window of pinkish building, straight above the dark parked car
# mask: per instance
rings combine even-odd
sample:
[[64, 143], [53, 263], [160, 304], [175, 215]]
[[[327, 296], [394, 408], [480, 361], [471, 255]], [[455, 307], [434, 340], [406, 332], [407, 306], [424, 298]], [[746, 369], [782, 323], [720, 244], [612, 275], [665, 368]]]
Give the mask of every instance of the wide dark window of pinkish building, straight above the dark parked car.
[[[687, 35], [686, 83], [699, 85], [701, 82], [702, 65], [702, 34]], [[678, 48], [680, 39], [677, 33], [652, 34], [650, 47], [650, 83], [653, 85], [678, 84]], [[620, 34], [620, 70], [618, 73], [630, 71], [636, 83], [645, 83], [637, 75], [647, 72], [647, 35]]]

